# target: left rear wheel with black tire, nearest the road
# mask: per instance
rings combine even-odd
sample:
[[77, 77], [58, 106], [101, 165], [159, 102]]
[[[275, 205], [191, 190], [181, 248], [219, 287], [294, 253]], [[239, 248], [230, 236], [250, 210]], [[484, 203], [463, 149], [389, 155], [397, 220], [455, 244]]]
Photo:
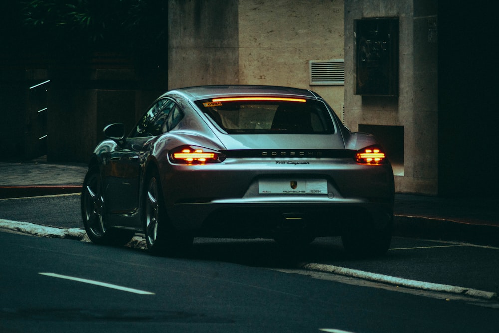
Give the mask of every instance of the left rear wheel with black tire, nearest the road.
[[144, 234], [148, 251], [156, 256], [185, 256], [192, 247], [193, 237], [176, 230], [168, 218], [159, 173], [146, 178], [144, 189]]

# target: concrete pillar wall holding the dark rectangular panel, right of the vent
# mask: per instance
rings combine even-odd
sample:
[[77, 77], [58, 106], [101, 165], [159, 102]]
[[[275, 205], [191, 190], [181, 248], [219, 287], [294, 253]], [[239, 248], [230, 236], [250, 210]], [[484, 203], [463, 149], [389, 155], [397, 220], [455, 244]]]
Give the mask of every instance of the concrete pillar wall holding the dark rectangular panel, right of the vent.
[[[431, 0], [345, 0], [345, 123], [402, 126], [403, 165], [397, 192], [438, 192], [437, 44], [431, 38], [436, 5]], [[398, 96], [354, 95], [354, 20], [399, 19]]]

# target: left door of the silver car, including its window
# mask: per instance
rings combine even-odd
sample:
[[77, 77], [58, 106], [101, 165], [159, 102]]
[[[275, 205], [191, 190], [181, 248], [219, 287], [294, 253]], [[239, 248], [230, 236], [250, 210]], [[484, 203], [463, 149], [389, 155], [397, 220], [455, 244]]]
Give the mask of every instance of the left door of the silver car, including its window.
[[108, 213], [131, 215], [138, 211], [142, 166], [151, 142], [165, 132], [168, 116], [174, 107], [173, 101], [167, 98], [155, 102], [132, 129], [125, 143], [110, 153], [104, 181]]

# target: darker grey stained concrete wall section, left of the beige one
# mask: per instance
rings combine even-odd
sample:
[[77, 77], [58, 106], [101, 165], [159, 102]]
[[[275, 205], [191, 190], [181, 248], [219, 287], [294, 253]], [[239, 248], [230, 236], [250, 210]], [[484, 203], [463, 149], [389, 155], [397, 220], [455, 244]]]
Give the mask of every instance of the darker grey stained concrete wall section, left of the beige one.
[[238, 83], [238, 1], [168, 3], [168, 88]]

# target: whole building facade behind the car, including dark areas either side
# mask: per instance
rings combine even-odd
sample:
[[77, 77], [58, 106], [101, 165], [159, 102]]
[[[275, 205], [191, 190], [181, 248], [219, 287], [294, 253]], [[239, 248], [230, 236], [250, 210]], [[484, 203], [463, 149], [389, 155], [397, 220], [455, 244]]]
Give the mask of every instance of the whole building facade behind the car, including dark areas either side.
[[[84, 86], [39, 67], [20, 70], [26, 78], [3, 75], [0, 100], [15, 126], [2, 125], [0, 148], [20, 149], [10, 133], [39, 144], [46, 131], [49, 157], [83, 161], [105, 123], [133, 124], [161, 91], [293, 86], [319, 93], [350, 130], [376, 135], [397, 192], [498, 196], [492, 9], [485, 0], [169, 0], [168, 47], [158, 55], [167, 66], [138, 75], [127, 64], [99, 65]], [[28, 89], [49, 79], [39, 96]], [[30, 134], [24, 109], [41, 116], [40, 133]]]

